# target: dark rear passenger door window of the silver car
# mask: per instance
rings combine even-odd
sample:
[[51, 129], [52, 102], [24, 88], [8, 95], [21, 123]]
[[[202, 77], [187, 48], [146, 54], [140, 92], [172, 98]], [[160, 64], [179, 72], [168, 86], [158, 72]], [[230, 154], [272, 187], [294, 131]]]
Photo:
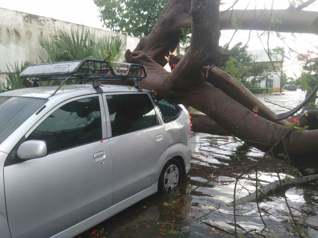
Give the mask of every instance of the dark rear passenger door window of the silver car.
[[159, 124], [148, 94], [106, 95], [106, 100], [113, 136]]

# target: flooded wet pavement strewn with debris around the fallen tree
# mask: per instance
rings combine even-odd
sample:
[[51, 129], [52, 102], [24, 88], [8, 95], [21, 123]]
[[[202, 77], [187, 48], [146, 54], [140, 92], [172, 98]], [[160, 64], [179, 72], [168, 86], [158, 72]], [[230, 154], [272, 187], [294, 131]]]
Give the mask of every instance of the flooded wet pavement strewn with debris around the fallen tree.
[[[301, 91], [285, 92], [285, 95], [266, 95], [269, 101], [293, 108], [304, 99]], [[264, 100], [259, 97], [260, 100]], [[283, 109], [266, 103], [276, 113]], [[165, 195], [152, 195], [114, 215], [99, 225], [87, 230], [84, 237], [234, 237], [233, 208], [225, 203], [233, 201], [235, 179], [232, 176], [220, 176], [208, 182], [193, 193], [185, 196], [172, 206], [189, 190], [206, 182], [219, 171], [231, 170], [254, 163], [263, 152], [250, 148], [234, 137], [212, 136], [204, 133], [192, 133], [193, 159], [190, 172], [183, 177], [182, 184]], [[278, 161], [279, 167], [286, 167]], [[273, 161], [267, 157], [258, 166], [258, 181], [264, 185], [277, 176]], [[238, 175], [232, 173], [231, 175]], [[280, 174], [284, 177], [284, 174]], [[248, 195], [255, 190], [255, 173], [244, 175], [236, 189], [236, 198]], [[318, 237], [318, 183], [289, 188], [286, 191], [288, 203], [303, 235]], [[280, 192], [259, 202], [262, 218], [257, 204], [247, 202], [236, 207], [238, 237], [291, 237], [293, 235], [290, 215]], [[256, 230], [255, 230], [256, 229]], [[95, 230], [95, 231], [94, 231]], [[93, 232], [93, 233], [92, 233]], [[305, 233], [306, 232], [306, 233]], [[94, 234], [95, 233], [95, 234]], [[97, 236], [98, 234], [98, 236]]]

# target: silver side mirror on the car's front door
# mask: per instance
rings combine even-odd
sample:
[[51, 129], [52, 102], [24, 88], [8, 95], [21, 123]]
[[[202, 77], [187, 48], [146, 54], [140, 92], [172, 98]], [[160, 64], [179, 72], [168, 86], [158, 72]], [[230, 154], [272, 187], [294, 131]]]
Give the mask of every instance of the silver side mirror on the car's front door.
[[24, 160], [44, 157], [47, 155], [46, 143], [39, 140], [25, 141], [19, 146], [17, 155]]

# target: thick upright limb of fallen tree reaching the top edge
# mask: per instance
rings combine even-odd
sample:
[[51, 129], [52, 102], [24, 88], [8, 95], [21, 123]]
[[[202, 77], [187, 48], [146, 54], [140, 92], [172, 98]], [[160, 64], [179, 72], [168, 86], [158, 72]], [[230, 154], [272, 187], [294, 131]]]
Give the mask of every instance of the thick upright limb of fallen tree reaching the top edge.
[[[190, 15], [192, 18], [191, 43], [186, 54], [171, 72], [173, 88], [178, 91], [190, 91], [203, 83], [203, 66], [211, 63], [223, 64], [219, 47], [219, 1], [192, 0]], [[182, 88], [182, 90], [180, 89]]]

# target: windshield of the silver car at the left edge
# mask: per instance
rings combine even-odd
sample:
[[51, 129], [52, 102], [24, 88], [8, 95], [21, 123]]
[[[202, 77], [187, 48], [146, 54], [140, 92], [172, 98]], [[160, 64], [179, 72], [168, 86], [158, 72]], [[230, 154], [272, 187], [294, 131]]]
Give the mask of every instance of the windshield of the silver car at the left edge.
[[0, 143], [46, 101], [46, 99], [29, 97], [0, 97]]

